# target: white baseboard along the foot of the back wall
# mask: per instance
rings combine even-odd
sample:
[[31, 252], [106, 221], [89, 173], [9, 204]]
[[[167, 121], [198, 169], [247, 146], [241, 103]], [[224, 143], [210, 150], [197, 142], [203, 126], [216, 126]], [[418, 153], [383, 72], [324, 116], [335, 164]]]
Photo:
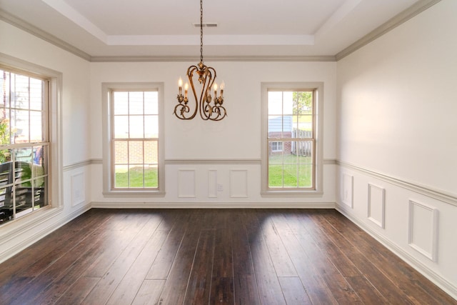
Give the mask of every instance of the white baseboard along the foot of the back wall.
[[334, 202], [101, 202], [94, 209], [335, 209]]

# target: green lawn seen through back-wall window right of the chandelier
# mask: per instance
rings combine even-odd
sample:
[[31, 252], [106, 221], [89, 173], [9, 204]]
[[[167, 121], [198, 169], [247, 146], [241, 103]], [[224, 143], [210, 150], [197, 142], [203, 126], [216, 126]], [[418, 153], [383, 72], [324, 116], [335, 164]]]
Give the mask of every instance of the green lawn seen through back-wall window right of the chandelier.
[[269, 187], [311, 187], [312, 169], [311, 157], [295, 156], [270, 156], [268, 164]]

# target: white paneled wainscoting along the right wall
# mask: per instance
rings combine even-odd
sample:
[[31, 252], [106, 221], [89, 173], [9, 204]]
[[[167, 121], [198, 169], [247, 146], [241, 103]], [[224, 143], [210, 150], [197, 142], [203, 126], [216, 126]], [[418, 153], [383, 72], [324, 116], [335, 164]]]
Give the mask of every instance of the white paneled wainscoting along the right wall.
[[[337, 164], [336, 209], [457, 300], [457, 193]], [[350, 176], [352, 208], [343, 202]]]

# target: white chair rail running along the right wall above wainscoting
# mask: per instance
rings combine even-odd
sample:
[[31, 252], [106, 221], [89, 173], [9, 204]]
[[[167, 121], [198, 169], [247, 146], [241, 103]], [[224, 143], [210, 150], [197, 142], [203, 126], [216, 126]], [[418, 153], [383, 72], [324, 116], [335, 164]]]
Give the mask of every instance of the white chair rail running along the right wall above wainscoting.
[[371, 169], [366, 169], [361, 166], [356, 166], [353, 164], [349, 164], [344, 161], [336, 161], [338, 166], [346, 167], [347, 169], [351, 169], [353, 171], [358, 171], [362, 174], [367, 174], [368, 176], [372, 176], [373, 178], [380, 179], [382, 181], [386, 181], [390, 184], [400, 186], [403, 189], [408, 189], [410, 191], [414, 191], [418, 194], [423, 194], [433, 199], [438, 199], [439, 201], [446, 202], [447, 204], [452, 204], [453, 206], [457, 206], [457, 194], [450, 194], [446, 191], [442, 191], [439, 189], [433, 189], [430, 186], [423, 186], [420, 184], [415, 184], [411, 181], [406, 181], [403, 179], [396, 178], [394, 176], [388, 176], [386, 174], [382, 174], [378, 171], [373, 171]]

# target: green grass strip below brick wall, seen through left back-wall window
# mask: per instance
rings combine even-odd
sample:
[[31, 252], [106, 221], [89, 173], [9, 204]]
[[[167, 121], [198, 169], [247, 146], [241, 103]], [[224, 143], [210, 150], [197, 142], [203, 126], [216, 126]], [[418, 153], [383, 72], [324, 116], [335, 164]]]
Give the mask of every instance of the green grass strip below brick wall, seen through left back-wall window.
[[159, 187], [157, 168], [134, 167], [129, 171], [116, 169], [116, 188]]

